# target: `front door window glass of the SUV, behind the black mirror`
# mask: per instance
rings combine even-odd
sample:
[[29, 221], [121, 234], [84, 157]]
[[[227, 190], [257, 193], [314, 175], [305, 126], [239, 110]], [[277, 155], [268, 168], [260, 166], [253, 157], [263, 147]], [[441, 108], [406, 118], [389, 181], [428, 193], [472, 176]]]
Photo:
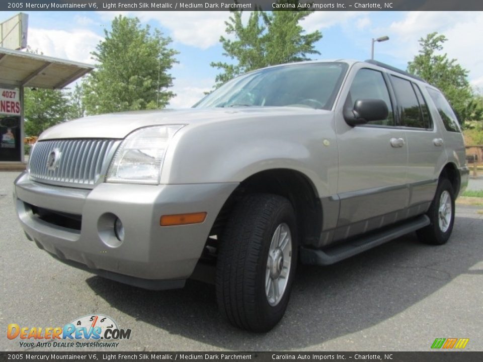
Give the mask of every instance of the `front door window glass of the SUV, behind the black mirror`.
[[368, 124], [394, 126], [392, 116], [392, 104], [387, 91], [387, 85], [382, 73], [373, 69], [359, 69], [354, 81], [352, 82], [349, 95], [347, 96], [345, 107], [354, 107], [354, 103], [359, 99], [380, 99], [386, 102], [389, 115], [387, 119], [371, 121]]

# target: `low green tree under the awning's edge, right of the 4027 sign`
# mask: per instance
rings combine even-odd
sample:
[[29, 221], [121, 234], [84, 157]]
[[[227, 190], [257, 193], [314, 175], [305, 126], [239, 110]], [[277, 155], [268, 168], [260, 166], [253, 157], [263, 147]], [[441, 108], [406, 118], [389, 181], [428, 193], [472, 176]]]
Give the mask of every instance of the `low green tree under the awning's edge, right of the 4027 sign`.
[[25, 133], [38, 136], [43, 130], [69, 118], [67, 95], [59, 89], [25, 88]]

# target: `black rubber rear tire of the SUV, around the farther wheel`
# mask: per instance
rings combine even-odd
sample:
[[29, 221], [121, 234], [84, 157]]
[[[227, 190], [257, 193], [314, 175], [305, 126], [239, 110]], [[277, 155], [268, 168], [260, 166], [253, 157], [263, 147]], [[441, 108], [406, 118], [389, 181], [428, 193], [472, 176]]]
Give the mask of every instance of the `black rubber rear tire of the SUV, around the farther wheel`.
[[[450, 198], [450, 202], [448, 204], [451, 204], [451, 218], [449, 220], [449, 223], [441, 226], [439, 209], [441, 206], [441, 195], [445, 192], [449, 195]], [[434, 195], [433, 202], [431, 203], [431, 206], [427, 213], [431, 223], [428, 226], [417, 231], [419, 240], [426, 244], [432, 245], [445, 244], [451, 236], [451, 232], [453, 231], [454, 211], [455, 209], [453, 186], [447, 178], [441, 178], [439, 180], [438, 188], [436, 189], [436, 194]]]

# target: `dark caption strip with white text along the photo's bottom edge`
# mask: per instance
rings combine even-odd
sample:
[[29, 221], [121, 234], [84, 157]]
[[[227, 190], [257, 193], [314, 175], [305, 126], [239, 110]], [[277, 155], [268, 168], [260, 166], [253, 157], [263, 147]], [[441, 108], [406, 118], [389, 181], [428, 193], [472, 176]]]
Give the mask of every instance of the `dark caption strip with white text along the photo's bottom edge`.
[[20, 362], [32, 360], [480, 362], [483, 360], [483, 352], [442, 350], [428, 352], [0, 352], [0, 360]]

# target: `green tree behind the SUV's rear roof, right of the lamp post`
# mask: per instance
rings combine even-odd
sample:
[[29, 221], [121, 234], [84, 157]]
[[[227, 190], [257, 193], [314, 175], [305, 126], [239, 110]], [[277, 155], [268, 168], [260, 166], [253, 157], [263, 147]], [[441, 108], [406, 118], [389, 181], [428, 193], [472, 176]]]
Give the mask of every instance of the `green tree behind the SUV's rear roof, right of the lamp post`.
[[447, 38], [436, 32], [421, 38], [421, 49], [408, 63], [408, 71], [437, 86], [464, 123], [478, 117], [478, 106], [468, 82], [468, 71], [456, 59], [449, 59], [446, 53], [441, 53], [445, 41]]

